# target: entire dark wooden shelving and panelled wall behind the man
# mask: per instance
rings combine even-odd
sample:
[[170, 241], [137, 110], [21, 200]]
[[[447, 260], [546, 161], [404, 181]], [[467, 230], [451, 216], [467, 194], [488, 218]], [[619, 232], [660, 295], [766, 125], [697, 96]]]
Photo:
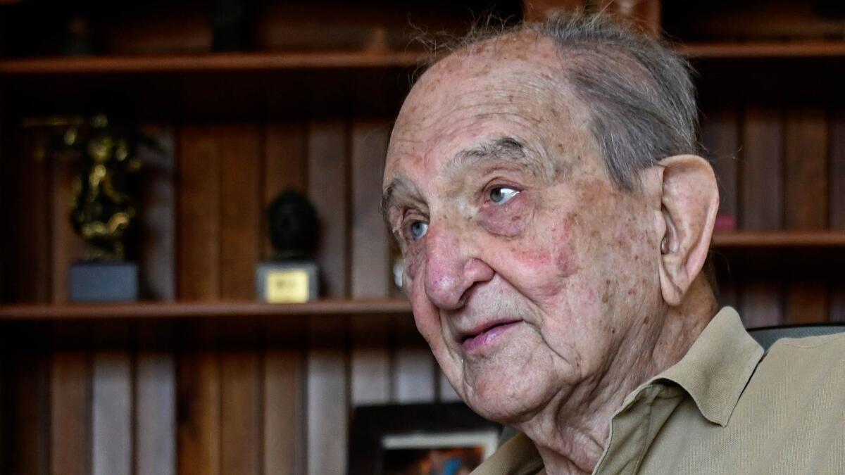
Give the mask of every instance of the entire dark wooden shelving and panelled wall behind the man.
[[[376, 204], [426, 56], [408, 40], [458, 34], [484, 2], [259, 3], [253, 50], [229, 53], [209, 51], [204, 3], [74, 3], [106, 25], [94, 57], [56, 56], [45, 31], [74, 7], [46, 4], [0, 5], [0, 472], [344, 473], [353, 407], [455, 401], [391, 283]], [[722, 302], [748, 326], [845, 321], [841, 17], [786, 1], [493, 11], [554, 5], [668, 30], [693, 61], [736, 223], [715, 238]], [[143, 157], [144, 303], [68, 303], [74, 166], [25, 124], [95, 111], [166, 149]], [[253, 303], [264, 209], [286, 188], [319, 210], [324, 302]]]

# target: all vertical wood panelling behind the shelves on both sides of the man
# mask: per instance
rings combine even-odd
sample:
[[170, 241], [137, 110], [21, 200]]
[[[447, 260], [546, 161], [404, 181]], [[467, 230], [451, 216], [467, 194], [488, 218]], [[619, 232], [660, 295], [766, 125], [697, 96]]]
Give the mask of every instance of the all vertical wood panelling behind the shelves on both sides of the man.
[[[145, 156], [143, 288], [157, 300], [254, 298], [267, 259], [264, 208], [297, 189], [324, 222], [316, 259], [330, 298], [392, 294], [390, 238], [379, 216], [384, 119], [147, 124], [168, 152]], [[3, 301], [67, 299], [81, 243], [67, 223], [72, 167], [35, 153], [43, 133], [15, 131], [0, 192], [31, 204], [3, 210]], [[796, 106], [714, 107], [701, 141], [739, 229], [845, 229], [845, 112]], [[9, 253], [8, 249], [20, 249]], [[771, 256], [771, 254], [770, 254]], [[722, 300], [746, 325], [845, 320], [837, 270], [771, 273], [766, 262], [722, 276]], [[756, 269], [759, 264], [760, 268]], [[14, 280], [8, 276], [14, 274]], [[323, 474], [346, 471], [352, 407], [454, 401], [410, 317], [373, 315], [352, 329], [307, 322], [308, 338], [252, 345], [198, 327], [190, 343], [144, 325], [117, 347], [41, 341], [37, 326], [3, 352], [0, 472], [35, 474]], [[73, 323], [60, 332], [73, 340]], [[207, 335], [203, 335], [207, 333]], [[113, 337], [112, 337], [113, 340]], [[155, 340], [155, 341], [153, 341]], [[32, 344], [30, 344], [32, 343]]]

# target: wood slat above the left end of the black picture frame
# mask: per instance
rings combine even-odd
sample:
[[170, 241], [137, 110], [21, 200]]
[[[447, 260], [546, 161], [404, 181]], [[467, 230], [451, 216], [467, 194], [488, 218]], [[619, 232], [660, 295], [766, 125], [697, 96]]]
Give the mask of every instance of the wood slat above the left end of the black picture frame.
[[[390, 241], [379, 210], [389, 129], [380, 121], [352, 124], [352, 298], [385, 298]], [[352, 405], [390, 401], [388, 321], [357, 319], [352, 328]]]

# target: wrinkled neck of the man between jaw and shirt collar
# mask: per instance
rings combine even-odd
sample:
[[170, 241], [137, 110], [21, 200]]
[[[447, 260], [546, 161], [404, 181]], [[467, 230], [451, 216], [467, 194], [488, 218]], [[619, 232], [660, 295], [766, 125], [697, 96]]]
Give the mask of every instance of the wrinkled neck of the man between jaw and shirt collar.
[[[625, 397], [678, 363], [717, 312], [709, 285], [698, 279], [678, 308], [664, 308], [651, 327], [637, 326], [608, 371], [559, 395], [519, 424], [535, 445], [549, 475], [590, 473], [608, 443], [613, 414]], [[643, 351], [643, 349], [646, 351]], [[651, 351], [647, 351], [651, 350]]]

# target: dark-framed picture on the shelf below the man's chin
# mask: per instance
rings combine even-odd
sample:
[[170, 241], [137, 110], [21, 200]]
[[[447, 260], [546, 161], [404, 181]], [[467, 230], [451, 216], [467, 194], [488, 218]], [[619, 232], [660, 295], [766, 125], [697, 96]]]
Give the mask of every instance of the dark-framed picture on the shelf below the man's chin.
[[501, 426], [463, 403], [357, 407], [350, 475], [466, 475], [493, 454]]

